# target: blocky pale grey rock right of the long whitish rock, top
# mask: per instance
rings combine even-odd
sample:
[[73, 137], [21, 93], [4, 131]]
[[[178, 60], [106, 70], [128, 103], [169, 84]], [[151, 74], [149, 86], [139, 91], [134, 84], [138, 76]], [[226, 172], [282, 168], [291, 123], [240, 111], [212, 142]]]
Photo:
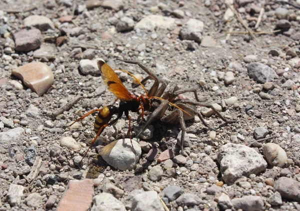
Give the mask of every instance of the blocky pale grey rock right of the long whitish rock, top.
[[190, 39], [200, 42], [202, 39], [204, 23], [201, 20], [190, 18], [180, 29], [182, 39]]

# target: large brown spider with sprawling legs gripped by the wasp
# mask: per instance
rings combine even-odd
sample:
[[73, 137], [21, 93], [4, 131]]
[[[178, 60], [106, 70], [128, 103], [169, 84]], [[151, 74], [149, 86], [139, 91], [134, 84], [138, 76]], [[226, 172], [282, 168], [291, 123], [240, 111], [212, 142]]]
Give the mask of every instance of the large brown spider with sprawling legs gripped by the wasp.
[[[164, 80], [161, 80], [157, 77], [157, 75], [148, 69], [145, 65], [143, 65], [139, 61], [133, 61], [133, 60], [124, 60], [117, 58], [120, 61], [123, 61], [125, 63], [131, 63], [131, 64], [137, 64], [142, 70], [144, 70], [148, 75], [140, 81], [142, 84], [144, 84], [147, 80], [153, 79], [154, 83], [151, 86], [150, 90], [148, 91], [148, 96], [156, 96], [156, 97], [161, 97], [163, 101], [158, 103], [158, 105], [155, 105], [153, 100], [151, 100], [151, 104], [153, 105], [154, 109], [151, 113], [151, 115], [147, 118], [146, 122], [142, 126], [141, 130], [136, 134], [136, 138], [139, 137], [139, 135], [147, 128], [147, 126], [153, 122], [155, 119], [160, 119], [162, 122], [166, 123], [171, 123], [171, 124], [176, 124], [179, 122], [179, 126], [181, 129], [181, 137], [180, 137], [180, 146], [181, 146], [181, 154], [183, 154], [183, 141], [184, 141], [184, 134], [186, 131], [186, 126], [185, 126], [185, 120], [189, 120], [193, 118], [195, 115], [197, 115], [203, 125], [211, 130], [215, 130], [216, 128], [211, 128], [207, 125], [207, 123], [204, 121], [204, 118], [202, 114], [196, 110], [195, 106], [203, 106], [203, 107], [208, 107], [211, 108], [217, 116], [219, 116], [224, 123], [232, 123], [235, 122], [235, 120], [227, 120], [225, 119], [218, 110], [216, 110], [211, 104], [200, 102], [196, 88], [184, 88], [184, 89], [179, 89], [177, 84], [173, 84], [169, 87], [167, 91], [166, 89], [166, 82]], [[160, 86], [159, 86], [160, 85]], [[185, 92], [193, 92], [195, 100], [185, 100], [185, 99], [178, 99], [176, 98], [179, 94], [185, 93]], [[186, 111], [189, 114], [188, 115], [182, 110], [178, 108], [173, 108], [171, 111], [169, 110], [169, 102], [177, 105], [178, 107], [182, 108], [184, 111]], [[223, 124], [219, 125], [222, 126]]]

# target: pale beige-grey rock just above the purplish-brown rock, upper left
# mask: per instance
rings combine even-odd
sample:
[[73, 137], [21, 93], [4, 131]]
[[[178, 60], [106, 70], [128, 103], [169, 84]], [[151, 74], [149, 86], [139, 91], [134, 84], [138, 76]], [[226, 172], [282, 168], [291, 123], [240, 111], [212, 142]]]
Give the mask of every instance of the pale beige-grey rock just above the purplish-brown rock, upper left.
[[27, 27], [35, 27], [41, 31], [45, 31], [47, 29], [54, 29], [53, 22], [46, 16], [42, 15], [29, 15], [24, 19], [24, 25]]

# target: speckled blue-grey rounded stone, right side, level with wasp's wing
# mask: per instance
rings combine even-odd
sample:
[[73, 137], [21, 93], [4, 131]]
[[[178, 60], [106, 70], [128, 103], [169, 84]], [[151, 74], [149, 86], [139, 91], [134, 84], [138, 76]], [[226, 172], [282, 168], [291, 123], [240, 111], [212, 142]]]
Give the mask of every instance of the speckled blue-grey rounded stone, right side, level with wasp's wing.
[[270, 82], [274, 78], [277, 78], [277, 74], [272, 68], [258, 62], [249, 63], [248, 74], [250, 78], [259, 83]]

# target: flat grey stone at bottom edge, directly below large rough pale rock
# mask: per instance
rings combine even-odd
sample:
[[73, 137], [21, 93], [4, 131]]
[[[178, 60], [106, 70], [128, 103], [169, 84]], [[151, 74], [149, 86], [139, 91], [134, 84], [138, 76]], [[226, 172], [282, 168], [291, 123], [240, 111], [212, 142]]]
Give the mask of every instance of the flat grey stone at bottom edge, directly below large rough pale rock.
[[248, 195], [231, 200], [233, 207], [243, 211], [260, 211], [263, 208], [263, 200], [260, 196]]

